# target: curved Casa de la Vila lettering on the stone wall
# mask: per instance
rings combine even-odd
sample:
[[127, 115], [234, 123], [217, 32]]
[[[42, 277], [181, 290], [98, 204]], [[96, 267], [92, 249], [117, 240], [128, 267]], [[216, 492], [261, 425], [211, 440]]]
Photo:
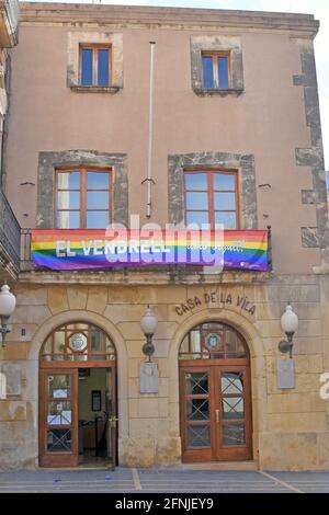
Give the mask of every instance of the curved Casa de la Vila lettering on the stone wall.
[[225, 307], [235, 306], [241, 311], [246, 311], [248, 314], [256, 313], [256, 305], [248, 300], [248, 297], [242, 295], [235, 297], [230, 293], [223, 291], [211, 291], [205, 293], [203, 296], [188, 298], [184, 302], [181, 302], [175, 307], [175, 312], [179, 317], [182, 317], [183, 314], [193, 311], [193, 309], [197, 308], [198, 306], [209, 306], [212, 304], [220, 304]]

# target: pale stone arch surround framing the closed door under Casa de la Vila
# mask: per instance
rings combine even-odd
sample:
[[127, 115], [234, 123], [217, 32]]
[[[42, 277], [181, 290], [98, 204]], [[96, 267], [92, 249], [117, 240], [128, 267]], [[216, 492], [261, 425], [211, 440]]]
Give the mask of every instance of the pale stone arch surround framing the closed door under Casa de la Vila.
[[189, 316], [175, 331], [168, 356], [169, 369], [169, 402], [174, 436], [180, 437], [180, 388], [179, 388], [179, 348], [185, 334], [195, 325], [203, 322], [225, 322], [236, 329], [246, 340], [250, 353], [251, 369], [251, 400], [252, 400], [252, 433], [253, 433], [253, 457], [258, 462], [259, 436], [266, 431], [266, 363], [262, 337], [252, 323], [245, 316], [223, 309], [220, 312], [203, 309], [197, 313]]

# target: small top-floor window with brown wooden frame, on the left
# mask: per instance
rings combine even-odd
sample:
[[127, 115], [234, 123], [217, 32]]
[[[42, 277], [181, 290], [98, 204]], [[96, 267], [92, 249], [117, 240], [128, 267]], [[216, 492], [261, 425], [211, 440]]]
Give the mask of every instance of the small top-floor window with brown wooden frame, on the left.
[[80, 85], [109, 88], [110, 76], [111, 47], [80, 45]]

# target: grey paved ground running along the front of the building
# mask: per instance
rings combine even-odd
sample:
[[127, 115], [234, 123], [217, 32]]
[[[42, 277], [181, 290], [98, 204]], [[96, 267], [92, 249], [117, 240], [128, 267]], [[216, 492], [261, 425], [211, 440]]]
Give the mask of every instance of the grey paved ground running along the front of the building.
[[329, 493], [328, 472], [216, 471], [168, 469], [0, 472], [0, 493]]

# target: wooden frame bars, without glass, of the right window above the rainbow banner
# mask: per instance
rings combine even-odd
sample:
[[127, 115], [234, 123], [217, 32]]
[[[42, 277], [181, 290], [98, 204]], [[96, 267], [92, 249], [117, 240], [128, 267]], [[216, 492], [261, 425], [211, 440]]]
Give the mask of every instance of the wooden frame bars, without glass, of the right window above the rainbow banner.
[[[197, 174], [197, 173], [206, 173], [207, 175], [207, 188], [206, 190], [186, 190], [185, 176]], [[234, 175], [235, 178], [235, 191], [232, 190], [216, 190], [214, 188], [214, 174], [220, 173], [226, 175]], [[211, 230], [215, 229], [215, 213], [235, 213], [236, 214], [236, 228], [235, 229], [225, 229], [225, 230], [240, 230], [240, 203], [239, 203], [239, 171], [238, 170], [228, 170], [228, 169], [200, 169], [200, 170], [184, 170], [183, 172], [183, 191], [184, 191], [184, 221], [186, 225], [186, 214], [188, 211], [200, 211], [200, 213], [208, 213], [208, 224], [211, 226]], [[207, 201], [208, 201], [208, 208], [207, 209], [188, 209], [186, 203], [186, 193], [206, 193]], [[214, 195], [215, 193], [235, 193], [235, 201], [236, 201], [236, 209], [215, 209], [214, 207]]]

